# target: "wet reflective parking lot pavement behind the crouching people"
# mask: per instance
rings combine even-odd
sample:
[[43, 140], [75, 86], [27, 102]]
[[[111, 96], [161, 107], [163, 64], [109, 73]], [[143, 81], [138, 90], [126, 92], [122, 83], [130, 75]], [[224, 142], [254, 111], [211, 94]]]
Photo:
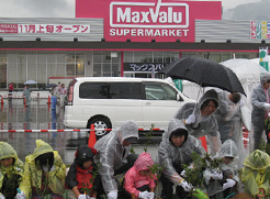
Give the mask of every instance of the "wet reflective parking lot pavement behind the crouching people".
[[[74, 154], [80, 143], [88, 142], [88, 132], [27, 132], [26, 130], [64, 130], [64, 109], [57, 107], [52, 111], [47, 98], [32, 99], [31, 106], [25, 107], [22, 98], [3, 99], [0, 109], [0, 130], [16, 130], [14, 132], [0, 132], [0, 140], [10, 143], [18, 152], [19, 158], [35, 148], [35, 141], [42, 139], [57, 150], [66, 164], [74, 161]], [[142, 153], [145, 147], [155, 159], [161, 136], [154, 136], [151, 141], [143, 136], [134, 145], [136, 153]], [[156, 133], [157, 135], [157, 133]], [[160, 133], [161, 135], [161, 133]]]

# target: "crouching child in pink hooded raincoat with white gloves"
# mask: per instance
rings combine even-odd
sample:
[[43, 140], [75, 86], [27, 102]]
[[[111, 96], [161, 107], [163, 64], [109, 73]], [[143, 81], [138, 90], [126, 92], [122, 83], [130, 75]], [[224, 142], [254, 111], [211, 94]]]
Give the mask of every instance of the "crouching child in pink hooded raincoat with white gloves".
[[132, 199], [155, 197], [155, 179], [149, 167], [154, 165], [150, 154], [142, 153], [134, 166], [125, 174], [125, 190], [131, 194]]

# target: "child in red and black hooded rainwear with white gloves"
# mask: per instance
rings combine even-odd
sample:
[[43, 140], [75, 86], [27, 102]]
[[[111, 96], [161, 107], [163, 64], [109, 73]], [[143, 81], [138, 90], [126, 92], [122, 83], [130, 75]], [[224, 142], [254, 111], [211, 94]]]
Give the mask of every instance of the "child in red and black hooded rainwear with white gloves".
[[[87, 144], [81, 144], [75, 156], [66, 177], [66, 185], [72, 191], [69, 192], [69, 198], [95, 199], [95, 176], [93, 176], [93, 172], [97, 170], [97, 167], [93, 163], [93, 153]], [[85, 195], [83, 188], [87, 188], [87, 195]]]

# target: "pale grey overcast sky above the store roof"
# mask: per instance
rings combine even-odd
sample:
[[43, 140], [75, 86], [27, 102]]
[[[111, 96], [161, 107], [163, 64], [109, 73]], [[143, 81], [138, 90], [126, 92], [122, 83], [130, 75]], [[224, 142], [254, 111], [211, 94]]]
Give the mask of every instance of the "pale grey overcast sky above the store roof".
[[[0, 0], [0, 18], [75, 18], [75, 1], [76, 0]], [[227, 10], [243, 3], [259, 1], [260, 0], [222, 0], [222, 4], [224, 10]]]

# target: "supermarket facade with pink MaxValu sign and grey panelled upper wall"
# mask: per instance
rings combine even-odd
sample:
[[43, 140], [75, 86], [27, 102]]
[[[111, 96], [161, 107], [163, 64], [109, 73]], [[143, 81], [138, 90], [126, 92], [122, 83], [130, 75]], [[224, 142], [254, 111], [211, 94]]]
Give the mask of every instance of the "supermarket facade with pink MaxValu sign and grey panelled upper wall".
[[[179, 57], [256, 58], [267, 38], [221, 1], [76, 1], [75, 19], [0, 19], [0, 89], [74, 77], [158, 77]], [[233, 30], [233, 31], [232, 31]], [[265, 42], [262, 42], [265, 41]]]

